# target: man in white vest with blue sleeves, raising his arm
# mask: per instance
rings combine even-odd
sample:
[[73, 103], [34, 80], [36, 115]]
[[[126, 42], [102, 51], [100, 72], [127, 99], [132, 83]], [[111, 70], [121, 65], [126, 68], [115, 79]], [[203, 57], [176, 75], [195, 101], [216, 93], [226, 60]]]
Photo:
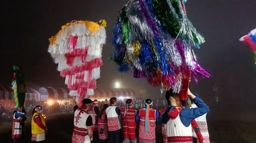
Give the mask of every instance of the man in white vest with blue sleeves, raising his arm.
[[165, 97], [169, 107], [163, 114], [162, 123], [166, 124], [167, 140], [169, 141], [175, 140], [179, 143], [186, 140], [186, 143], [192, 143], [191, 121], [209, 112], [207, 104], [201, 98], [193, 95], [189, 89], [187, 95], [198, 108], [183, 107], [178, 93], [173, 93], [172, 90], [166, 91]]

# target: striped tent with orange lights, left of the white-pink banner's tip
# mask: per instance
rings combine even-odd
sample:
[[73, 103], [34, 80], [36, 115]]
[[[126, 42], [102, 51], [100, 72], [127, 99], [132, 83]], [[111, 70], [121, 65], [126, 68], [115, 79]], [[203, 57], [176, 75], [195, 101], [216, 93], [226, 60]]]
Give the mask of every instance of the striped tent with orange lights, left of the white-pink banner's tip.
[[47, 100], [69, 100], [71, 97], [68, 95], [69, 90], [61, 87], [41, 87], [41, 101]]

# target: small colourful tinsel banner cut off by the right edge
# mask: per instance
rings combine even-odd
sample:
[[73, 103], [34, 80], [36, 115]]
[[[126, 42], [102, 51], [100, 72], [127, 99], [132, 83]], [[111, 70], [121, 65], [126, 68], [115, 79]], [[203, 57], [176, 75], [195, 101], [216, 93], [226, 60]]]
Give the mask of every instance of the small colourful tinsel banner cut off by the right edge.
[[242, 36], [239, 40], [250, 46], [256, 64], [256, 28], [250, 31], [249, 34]]

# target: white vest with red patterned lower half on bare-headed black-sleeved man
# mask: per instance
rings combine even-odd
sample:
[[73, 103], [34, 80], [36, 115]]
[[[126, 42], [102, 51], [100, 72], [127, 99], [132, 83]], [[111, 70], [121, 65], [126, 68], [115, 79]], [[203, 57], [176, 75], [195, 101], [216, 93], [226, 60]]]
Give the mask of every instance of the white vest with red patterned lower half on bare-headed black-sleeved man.
[[[106, 109], [106, 115], [107, 115], [107, 118], [108, 118], [108, 130], [109, 131], [114, 131], [116, 130], [117, 128], [115, 126], [119, 126], [118, 128], [121, 129], [121, 124], [120, 124], [120, 121], [118, 119], [118, 115], [116, 113], [116, 106], [109, 106], [107, 109]], [[110, 125], [110, 119], [113, 121], [111, 121], [111, 124]], [[114, 121], [114, 120], [117, 120], [118, 121], [118, 125], [116, 124], [117, 122]], [[110, 126], [113, 126], [113, 130], [111, 129]]]

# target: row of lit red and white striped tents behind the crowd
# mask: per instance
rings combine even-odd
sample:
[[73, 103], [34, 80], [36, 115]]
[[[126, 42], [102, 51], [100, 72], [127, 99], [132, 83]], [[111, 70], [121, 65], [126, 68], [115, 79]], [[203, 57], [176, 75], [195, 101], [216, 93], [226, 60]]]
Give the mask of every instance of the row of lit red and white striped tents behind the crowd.
[[[97, 88], [95, 94], [90, 96], [92, 100], [97, 99], [103, 101], [116, 97], [119, 100], [125, 98], [135, 98], [135, 91], [130, 88]], [[71, 96], [68, 94], [69, 90], [61, 87], [41, 87], [39, 90], [35, 90], [26, 86], [26, 103], [25, 104], [65, 104], [71, 103]], [[16, 105], [14, 101], [14, 93], [12, 86], [0, 82], [0, 104], [4, 107], [14, 107]]]

